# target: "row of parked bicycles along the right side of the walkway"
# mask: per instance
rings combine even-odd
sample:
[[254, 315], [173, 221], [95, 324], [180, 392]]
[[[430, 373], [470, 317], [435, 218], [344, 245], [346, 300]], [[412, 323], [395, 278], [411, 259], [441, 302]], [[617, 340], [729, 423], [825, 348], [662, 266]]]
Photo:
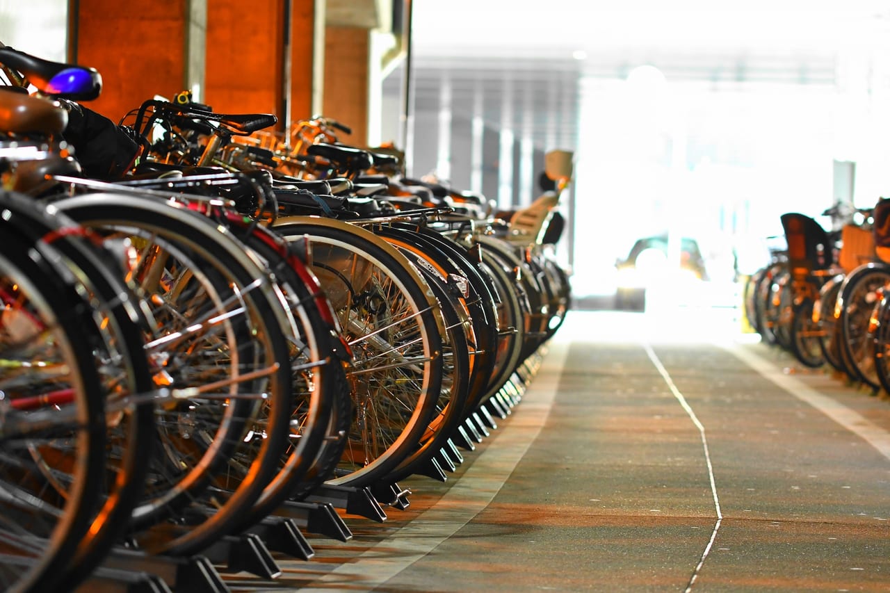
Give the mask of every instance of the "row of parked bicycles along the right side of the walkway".
[[890, 199], [821, 214], [831, 230], [808, 215], [781, 216], [784, 245], [748, 279], [748, 321], [805, 366], [829, 365], [890, 393]]

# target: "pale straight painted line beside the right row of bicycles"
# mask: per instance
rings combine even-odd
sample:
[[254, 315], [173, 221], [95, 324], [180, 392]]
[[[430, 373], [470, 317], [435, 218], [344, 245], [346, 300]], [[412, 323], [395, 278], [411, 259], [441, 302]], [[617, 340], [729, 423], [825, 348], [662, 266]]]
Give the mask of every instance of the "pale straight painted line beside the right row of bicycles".
[[752, 353], [750, 350], [740, 345], [724, 345], [723, 347], [727, 352], [735, 355], [736, 358], [756, 370], [764, 378], [769, 379], [789, 394], [794, 395], [801, 402], [810, 404], [840, 426], [854, 433], [854, 435], [860, 436], [862, 440], [878, 450], [886, 459], [890, 459], [890, 433], [884, 428], [870, 422], [867, 418], [862, 418], [861, 415], [854, 410], [850, 410], [843, 403], [833, 400], [828, 395], [821, 394], [813, 387], [807, 386], [803, 381], [786, 375], [772, 362]]

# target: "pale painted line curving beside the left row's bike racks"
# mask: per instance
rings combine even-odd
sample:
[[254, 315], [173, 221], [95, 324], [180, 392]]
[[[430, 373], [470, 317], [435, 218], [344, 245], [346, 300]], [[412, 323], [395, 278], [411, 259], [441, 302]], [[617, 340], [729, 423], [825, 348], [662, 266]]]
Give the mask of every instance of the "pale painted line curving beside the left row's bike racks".
[[331, 586], [337, 584], [356, 593], [377, 589], [479, 515], [504, 486], [545, 425], [568, 353], [568, 341], [550, 344], [538, 374], [522, 395], [522, 402], [433, 507], [356, 556], [354, 561], [337, 566], [300, 591], [330, 591]]

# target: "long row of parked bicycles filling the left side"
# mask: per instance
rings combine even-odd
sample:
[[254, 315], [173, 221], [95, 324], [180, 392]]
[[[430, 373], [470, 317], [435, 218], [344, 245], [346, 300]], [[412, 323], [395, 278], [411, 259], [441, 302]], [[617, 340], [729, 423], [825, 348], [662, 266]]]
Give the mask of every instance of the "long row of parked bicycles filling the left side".
[[[497, 213], [327, 118], [273, 134], [182, 93], [115, 124], [82, 104], [95, 70], [0, 66], [4, 590], [148, 558], [224, 589], [196, 556], [241, 546], [240, 570], [319, 500], [403, 505], [400, 480], [444, 479], [506, 417], [570, 307], [568, 152]], [[174, 566], [152, 590], [199, 589]]]

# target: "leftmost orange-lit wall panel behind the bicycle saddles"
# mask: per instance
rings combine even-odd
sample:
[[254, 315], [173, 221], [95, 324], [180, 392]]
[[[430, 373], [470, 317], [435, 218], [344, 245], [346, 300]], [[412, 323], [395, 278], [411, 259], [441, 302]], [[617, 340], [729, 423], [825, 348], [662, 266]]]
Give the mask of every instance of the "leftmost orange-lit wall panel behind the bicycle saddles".
[[117, 122], [156, 94], [172, 97], [188, 88], [200, 66], [190, 58], [200, 37], [192, 14], [205, 3], [166, 0], [129, 10], [117, 0], [72, 2], [70, 57], [102, 76], [101, 97], [88, 106]]

